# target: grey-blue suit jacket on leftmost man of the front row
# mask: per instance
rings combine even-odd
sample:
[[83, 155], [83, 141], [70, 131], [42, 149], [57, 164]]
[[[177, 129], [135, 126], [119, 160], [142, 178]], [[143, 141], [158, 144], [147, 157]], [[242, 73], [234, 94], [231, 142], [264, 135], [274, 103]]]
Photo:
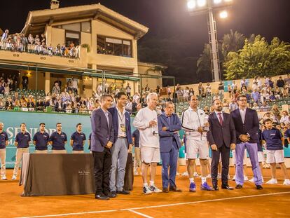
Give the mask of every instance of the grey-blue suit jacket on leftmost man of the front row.
[[112, 115], [109, 113], [109, 125], [106, 120], [106, 115], [101, 108], [92, 111], [90, 117], [90, 123], [92, 125], [92, 139], [90, 141], [91, 151], [104, 151], [104, 147], [110, 141], [113, 143], [113, 123]]

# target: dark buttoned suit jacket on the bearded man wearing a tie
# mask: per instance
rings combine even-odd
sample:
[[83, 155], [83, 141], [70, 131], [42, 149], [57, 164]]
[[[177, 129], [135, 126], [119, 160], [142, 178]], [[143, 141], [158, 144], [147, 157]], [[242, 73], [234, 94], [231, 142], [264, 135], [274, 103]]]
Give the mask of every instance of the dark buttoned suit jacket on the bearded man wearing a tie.
[[230, 144], [236, 142], [235, 125], [230, 114], [223, 113], [223, 125], [219, 123], [216, 113], [209, 114], [209, 131], [207, 132], [207, 141], [209, 145], [216, 144], [220, 148], [223, 144], [230, 147]]

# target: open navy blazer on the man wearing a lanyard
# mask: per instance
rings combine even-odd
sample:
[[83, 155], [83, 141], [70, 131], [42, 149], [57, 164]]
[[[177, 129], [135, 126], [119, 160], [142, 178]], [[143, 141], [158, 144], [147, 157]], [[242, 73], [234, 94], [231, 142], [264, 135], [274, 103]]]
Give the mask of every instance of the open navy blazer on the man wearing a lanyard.
[[[114, 135], [113, 135], [113, 142], [116, 142], [118, 138], [118, 129], [119, 129], [119, 119], [118, 119], [118, 111], [116, 107], [112, 107], [109, 109], [110, 113], [113, 117], [113, 129], [114, 129]], [[132, 132], [131, 132], [131, 118], [128, 111], [125, 111], [125, 125], [126, 125], [126, 137], [127, 137], [127, 146], [129, 144], [133, 144], [132, 142]]]

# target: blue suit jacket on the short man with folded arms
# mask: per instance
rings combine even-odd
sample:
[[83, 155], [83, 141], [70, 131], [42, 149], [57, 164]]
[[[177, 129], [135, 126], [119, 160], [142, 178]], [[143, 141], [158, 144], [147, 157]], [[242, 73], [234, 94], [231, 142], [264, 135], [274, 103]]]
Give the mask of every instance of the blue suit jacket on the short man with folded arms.
[[[177, 142], [178, 149], [181, 148], [181, 143], [179, 139], [179, 134], [175, 133], [175, 131], [181, 130], [181, 123], [177, 114], [172, 114], [171, 125], [165, 116], [165, 114], [161, 114], [158, 116], [158, 133], [159, 133], [159, 141], [160, 141], [160, 152], [169, 152], [173, 147], [174, 140]], [[163, 131], [163, 127], [167, 127], [166, 131]]]

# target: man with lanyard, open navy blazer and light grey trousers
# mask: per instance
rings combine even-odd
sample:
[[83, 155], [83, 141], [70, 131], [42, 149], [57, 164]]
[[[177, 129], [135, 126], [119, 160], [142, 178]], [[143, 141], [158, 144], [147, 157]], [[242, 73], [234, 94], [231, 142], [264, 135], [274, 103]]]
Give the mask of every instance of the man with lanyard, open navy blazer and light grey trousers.
[[114, 129], [112, 165], [110, 172], [110, 190], [113, 197], [116, 197], [117, 193], [130, 193], [129, 191], [124, 190], [123, 186], [127, 155], [128, 152], [132, 151], [130, 114], [125, 110], [127, 95], [125, 93], [118, 93], [116, 95], [116, 103], [116, 107], [109, 109], [113, 117]]

